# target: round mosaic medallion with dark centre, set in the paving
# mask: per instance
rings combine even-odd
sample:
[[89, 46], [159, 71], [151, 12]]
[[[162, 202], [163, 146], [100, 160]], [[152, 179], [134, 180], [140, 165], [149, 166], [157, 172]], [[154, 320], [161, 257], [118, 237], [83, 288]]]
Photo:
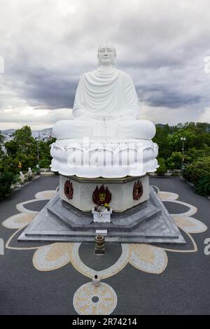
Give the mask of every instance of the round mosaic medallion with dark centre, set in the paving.
[[109, 284], [95, 287], [92, 282], [80, 286], [73, 296], [73, 307], [80, 315], [108, 315], [116, 308], [118, 298]]

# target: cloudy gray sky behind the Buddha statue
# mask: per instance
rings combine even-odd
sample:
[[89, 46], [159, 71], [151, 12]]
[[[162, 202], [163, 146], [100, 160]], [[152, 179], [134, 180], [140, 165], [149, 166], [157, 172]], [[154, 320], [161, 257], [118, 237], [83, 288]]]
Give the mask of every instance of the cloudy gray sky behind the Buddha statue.
[[209, 0], [0, 0], [0, 36], [0, 130], [68, 119], [106, 40], [141, 118], [210, 123]]

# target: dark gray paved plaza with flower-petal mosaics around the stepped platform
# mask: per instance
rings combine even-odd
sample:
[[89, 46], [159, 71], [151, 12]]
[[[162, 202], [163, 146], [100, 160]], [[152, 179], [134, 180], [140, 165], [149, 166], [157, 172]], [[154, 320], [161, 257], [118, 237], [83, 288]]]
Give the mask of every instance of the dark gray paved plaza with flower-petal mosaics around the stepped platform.
[[[18, 242], [58, 184], [58, 176], [42, 176], [0, 202], [0, 237], [8, 242], [0, 255], [0, 314], [210, 313], [210, 200], [180, 178], [151, 178], [185, 246], [107, 244], [98, 256], [94, 244]], [[99, 288], [90, 283], [95, 272]]]

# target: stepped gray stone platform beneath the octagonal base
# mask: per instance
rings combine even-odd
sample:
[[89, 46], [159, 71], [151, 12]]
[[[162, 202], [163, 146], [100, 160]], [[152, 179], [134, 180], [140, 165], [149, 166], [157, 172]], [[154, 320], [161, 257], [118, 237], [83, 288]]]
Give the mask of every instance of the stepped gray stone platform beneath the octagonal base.
[[185, 244], [172, 216], [150, 188], [150, 199], [137, 207], [113, 213], [111, 223], [94, 223], [84, 213], [55, 195], [22, 232], [18, 241], [92, 242], [96, 230], [107, 230], [106, 241]]

